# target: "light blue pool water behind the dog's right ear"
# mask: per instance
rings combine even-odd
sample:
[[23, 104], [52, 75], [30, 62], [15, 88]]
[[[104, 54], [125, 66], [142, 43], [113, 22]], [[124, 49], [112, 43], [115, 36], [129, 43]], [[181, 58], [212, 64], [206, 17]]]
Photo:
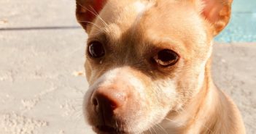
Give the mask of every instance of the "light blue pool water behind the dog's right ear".
[[231, 20], [218, 42], [256, 42], [256, 0], [233, 0]]

